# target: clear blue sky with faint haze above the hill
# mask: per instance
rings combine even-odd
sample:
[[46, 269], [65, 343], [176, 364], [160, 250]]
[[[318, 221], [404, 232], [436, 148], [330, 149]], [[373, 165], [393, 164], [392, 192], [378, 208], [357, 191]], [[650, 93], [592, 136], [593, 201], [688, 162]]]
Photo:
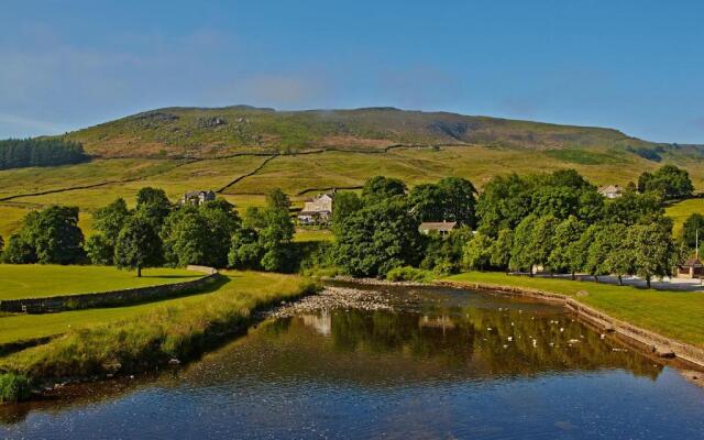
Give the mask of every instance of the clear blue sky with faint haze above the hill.
[[2, 0], [0, 139], [392, 106], [704, 143], [704, 1]]

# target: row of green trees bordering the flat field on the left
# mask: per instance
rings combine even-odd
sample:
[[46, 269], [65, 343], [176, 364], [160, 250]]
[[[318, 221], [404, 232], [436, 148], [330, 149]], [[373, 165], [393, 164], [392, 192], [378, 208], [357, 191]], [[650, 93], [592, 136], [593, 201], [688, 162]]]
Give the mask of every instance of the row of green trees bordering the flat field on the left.
[[30, 212], [4, 250], [0, 238], [0, 251], [6, 263], [114, 265], [138, 276], [144, 267], [188, 264], [292, 272], [289, 207], [288, 197], [274, 190], [265, 208], [249, 208], [241, 219], [227, 200], [179, 206], [163, 189], [146, 187], [134, 209], [121, 198], [97, 209], [97, 233], [88, 240], [78, 228], [78, 208], [53, 206]]

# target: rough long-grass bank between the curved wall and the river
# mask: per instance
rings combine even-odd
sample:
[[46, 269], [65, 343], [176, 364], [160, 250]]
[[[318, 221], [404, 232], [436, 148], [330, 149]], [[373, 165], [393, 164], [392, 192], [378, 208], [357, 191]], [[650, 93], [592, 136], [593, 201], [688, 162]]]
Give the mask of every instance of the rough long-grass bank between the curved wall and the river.
[[[212, 292], [147, 305], [113, 309], [121, 317], [85, 322], [84, 311], [41, 316], [69, 316], [76, 326], [51, 342], [0, 359], [0, 371], [31, 378], [133, 373], [170, 359], [188, 360], [227, 334], [245, 328], [252, 311], [315, 288], [293, 275], [226, 272]], [[96, 314], [100, 310], [86, 310]], [[88, 317], [88, 316], [87, 316]], [[28, 317], [29, 318], [29, 317]], [[0, 322], [4, 319], [0, 318]]]

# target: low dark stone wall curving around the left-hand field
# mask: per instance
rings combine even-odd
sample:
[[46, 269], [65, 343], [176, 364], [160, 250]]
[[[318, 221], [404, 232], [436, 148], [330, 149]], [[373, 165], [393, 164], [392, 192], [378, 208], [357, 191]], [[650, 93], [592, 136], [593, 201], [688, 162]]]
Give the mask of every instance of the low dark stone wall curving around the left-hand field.
[[190, 292], [201, 290], [217, 282], [220, 277], [218, 271], [212, 267], [199, 266], [199, 268], [193, 271], [208, 273], [208, 275], [183, 283], [160, 284], [156, 286], [133, 287], [120, 290], [43, 298], [6, 299], [0, 301], [0, 311], [11, 314], [53, 314], [68, 310], [122, 307], [138, 302], [183, 296]]

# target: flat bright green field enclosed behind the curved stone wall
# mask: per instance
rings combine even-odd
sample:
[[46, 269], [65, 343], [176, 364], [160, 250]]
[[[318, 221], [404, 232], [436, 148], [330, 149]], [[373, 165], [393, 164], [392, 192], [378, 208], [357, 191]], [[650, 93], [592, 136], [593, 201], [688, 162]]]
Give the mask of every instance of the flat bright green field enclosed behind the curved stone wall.
[[196, 272], [162, 267], [146, 268], [138, 278], [135, 272], [116, 267], [0, 264], [0, 300], [119, 290], [180, 283], [200, 276], [202, 274]]

